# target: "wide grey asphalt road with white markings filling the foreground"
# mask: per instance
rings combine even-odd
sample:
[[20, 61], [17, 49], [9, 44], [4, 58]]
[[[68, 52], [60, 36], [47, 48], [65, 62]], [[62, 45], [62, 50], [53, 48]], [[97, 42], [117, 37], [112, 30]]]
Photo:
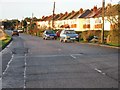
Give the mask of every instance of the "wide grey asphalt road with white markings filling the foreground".
[[118, 88], [118, 49], [20, 34], [2, 73], [2, 88]]

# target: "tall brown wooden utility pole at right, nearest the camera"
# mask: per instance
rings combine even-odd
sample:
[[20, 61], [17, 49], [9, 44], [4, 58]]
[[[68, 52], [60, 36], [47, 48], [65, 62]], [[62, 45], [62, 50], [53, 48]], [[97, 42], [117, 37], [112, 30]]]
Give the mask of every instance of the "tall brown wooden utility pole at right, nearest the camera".
[[105, 17], [105, 0], [102, 0], [102, 31], [101, 31], [101, 43], [104, 44], [104, 17]]

